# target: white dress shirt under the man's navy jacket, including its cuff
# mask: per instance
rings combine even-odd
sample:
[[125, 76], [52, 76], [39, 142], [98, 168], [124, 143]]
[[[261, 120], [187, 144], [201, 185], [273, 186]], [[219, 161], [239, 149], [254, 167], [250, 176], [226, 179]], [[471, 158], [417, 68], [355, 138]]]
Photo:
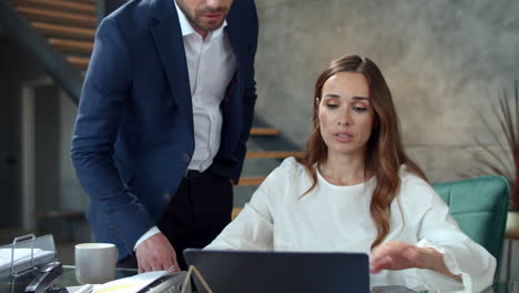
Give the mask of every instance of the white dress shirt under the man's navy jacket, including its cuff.
[[[184, 40], [193, 104], [195, 150], [187, 169], [202, 172], [213, 163], [220, 149], [223, 123], [220, 104], [236, 71], [236, 60], [228, 36], [224, 30], [227, 21], [202, 38], [193, 29], [176, 1], [173, 2]], [[134, 249], [144, 240], [160, 232], [159, 228], [151, 228], [138, 240]]]

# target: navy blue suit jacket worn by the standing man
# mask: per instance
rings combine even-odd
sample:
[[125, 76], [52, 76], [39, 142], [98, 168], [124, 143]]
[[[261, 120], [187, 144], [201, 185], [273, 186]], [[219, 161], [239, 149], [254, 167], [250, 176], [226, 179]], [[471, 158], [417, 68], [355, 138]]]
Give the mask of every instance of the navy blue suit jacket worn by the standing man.
[[[72, 160], [90, 196], [96, 241], [119, 257], [155, 225], [194, 152], [193, 113], [174, 0], [134, 0], [100, 24], [81, 94]], [[221, 104], [212, 172], [237, 181], [256, 101], [253, 0], [235, 0], [227, 27], [237, 71]]]

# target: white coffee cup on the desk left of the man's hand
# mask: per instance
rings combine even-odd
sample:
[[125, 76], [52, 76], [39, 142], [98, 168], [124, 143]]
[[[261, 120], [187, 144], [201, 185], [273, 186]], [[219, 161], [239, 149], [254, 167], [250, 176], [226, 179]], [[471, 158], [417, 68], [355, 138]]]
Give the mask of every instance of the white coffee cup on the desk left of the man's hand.
[[102, 284], [113, 280], [118, 249], [112, 243], [75, 245], [75, 280], [80, 284]]

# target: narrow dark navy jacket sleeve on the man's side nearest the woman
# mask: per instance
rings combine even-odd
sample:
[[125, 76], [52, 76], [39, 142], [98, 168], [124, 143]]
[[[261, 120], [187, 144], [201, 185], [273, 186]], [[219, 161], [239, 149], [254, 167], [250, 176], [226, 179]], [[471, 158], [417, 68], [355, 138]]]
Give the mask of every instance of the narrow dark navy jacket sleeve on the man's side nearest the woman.
[[254, 1], [250, 1], [252, 16], [250, 18], [250, 44], [248, 44], [248, 55], [247, 55], [247, 68], [251, 70], [246, 74], [245, 80], [245, 90], [243, 95], [243, 128], [242, 134], [240, 135], [240, 143], [236, 152], [237, 163], [231, 171], [231, 179], [235, 182], [238, 181], [240, 174], [242, 173], [243, 161], [246, 153], [246, 142], [251, 133], [252, 122], [254, 119], [254, 105], [256, 104], [256, 81], [254, 80], [254, 60], [257, 49], [257, 34], [258, 34], [258, 21], [256, 6]]

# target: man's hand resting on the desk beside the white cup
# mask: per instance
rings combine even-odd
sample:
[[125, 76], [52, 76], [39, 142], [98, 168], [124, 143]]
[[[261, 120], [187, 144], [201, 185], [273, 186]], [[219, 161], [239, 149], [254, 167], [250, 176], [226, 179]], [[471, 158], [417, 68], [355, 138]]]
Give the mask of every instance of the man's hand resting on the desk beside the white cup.
[[180, 271], [175, 250], [162, 233], [157, 233], [139, 244], [135, 249], [135, 255], [139, 273], [165, 271], [172, 266], [174, 272]]

